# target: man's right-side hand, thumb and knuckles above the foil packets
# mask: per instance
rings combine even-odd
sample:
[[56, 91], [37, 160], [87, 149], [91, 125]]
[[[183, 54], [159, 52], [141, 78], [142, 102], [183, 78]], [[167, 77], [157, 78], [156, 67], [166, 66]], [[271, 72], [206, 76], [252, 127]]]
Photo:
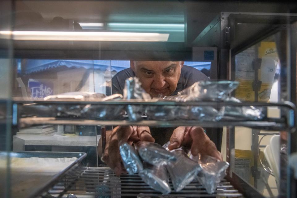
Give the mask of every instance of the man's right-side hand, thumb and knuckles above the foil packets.
[[193, 156], [199, 153], [207, 154], [222, 161], [222, 154], [201, 127], [177, 127], [170, 137], [168, 149], [172, 150], [180, 146], [191, 146]]

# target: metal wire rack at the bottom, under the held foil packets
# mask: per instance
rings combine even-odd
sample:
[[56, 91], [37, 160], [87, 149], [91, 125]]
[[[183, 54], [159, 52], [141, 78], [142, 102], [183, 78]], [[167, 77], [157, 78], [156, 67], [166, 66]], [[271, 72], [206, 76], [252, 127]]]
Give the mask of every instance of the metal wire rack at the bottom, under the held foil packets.
[[[173, 190], [172, 184], [170, 186]], [[217, 191], [209, 195], [199, 182], [192, 182], [180, 192], [162, 196], [141, 178], [135, 175], [115, 176], [108, 167], [77, 167], [69, 171], [54, 187], [44, 194], [44, 198], [67, 197], [72, 193], [77, 198], [99, 197], [243, 197], [230, 182], [223, 180]]]

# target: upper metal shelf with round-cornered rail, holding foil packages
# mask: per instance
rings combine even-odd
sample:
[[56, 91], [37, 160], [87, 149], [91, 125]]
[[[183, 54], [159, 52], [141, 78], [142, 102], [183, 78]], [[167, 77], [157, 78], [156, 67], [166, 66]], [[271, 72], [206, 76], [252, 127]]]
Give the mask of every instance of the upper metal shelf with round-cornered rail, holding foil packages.
[[[278, 107], [282, 110], [286, 110], [286, 114], [282, 115], [281, 118], [264, 118], [259, 121], [234, 121], [234, 120], [219, 120], [216, 122], [211, 121], [199, 121], [199, 120], [149, 120], [145, 116], [138, 121], [130, 121], [127, 117], [123, 116], [123, 119], [94, 119], [92, 117], [86, 118], [72, 118], [72, 117], [21, 117], [18, 122], [21, 127], [32, 125], [32, 124], [70, 124], [70, 125], [101, 125], [101, 126], [112, 126], [112, 125], [138, 125], [138, 126], [158, 126], [158, 127], [178, 127], [178, 126], [195, 126], [208, 128], [218, 127], [252, 127], [271, 131], [279, 130], [292, 130], [295, 123], [295, 106], [291, 102], [284, 103], [263, 103], [263, 102], [175, 102], [175, 101], [141, 101], [141, 100], [114, 100], [114, 101], [44, 101], [44, 100], [15, 100], [15, 104], [40, 104], [42, 106], [56, 105], [57, 106], [73, 106], [73, 105], [99, 105], [103, 108], [114, 108], [115, 105], [121, 105], [123, 108], [128, 105], [139, 105], [142, 108], [145, 106], [212, 106], [219, 109], [223, 106], [258, 106], [258, 107]], [[28, 107], [28, 106], [27, 106]], [[293, 131], [293, 130], [292, 130]]]

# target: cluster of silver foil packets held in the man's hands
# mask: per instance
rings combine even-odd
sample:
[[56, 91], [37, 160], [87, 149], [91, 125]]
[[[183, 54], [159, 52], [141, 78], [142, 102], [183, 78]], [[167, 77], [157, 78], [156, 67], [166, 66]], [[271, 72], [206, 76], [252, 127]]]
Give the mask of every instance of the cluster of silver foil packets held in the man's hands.
[[135, 147], [121, 144], [120, 154], [129, 174], [137, 173], [151, 188], [163, 194], [169, 194], [173, 189], [179, 192], [194, 179], [198, 179], [209, 194], [214, 193], [229, 166], [210, 156], [201, 160], [200, 156], [194, 157], [186, 149], [169, 151], [152, 142], [139, 142]]

